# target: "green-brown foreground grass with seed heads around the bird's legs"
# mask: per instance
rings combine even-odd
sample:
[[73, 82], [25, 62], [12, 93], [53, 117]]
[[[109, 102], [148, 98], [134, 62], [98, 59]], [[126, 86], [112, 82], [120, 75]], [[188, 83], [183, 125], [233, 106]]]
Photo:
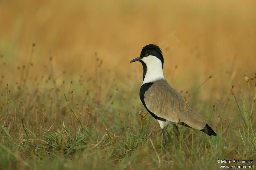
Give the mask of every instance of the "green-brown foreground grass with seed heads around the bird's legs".
[[[106, 82], [104, 71], [100, 74], [98, 80]], [[138, 91], [123, 97], [125, 92], [112, 85], [99, 97], [104, 92], [96, 81], [80, 78], [76, 82], [80, 85], [73, 81], [57, 85], [52, 77], [37, 78], [37, 87], [22, 81], [16, 88], [8, 84], [3, 89], [3, 169], [217, 169], [217, 159], [255, 161], [255, 77], [245, 78], [249, 95], [241, 86], [235, 95], [232, 86], [213, 106], [205, 103], [209, 109], [202, 116], [216, 137], [179, 126], [181, 135], [176, 139], [173, 127], [167, 126], [166, 155], [161, 129], [142, 107]], [[191, 105], [196, 105], [196, 97], [184, 93]]]

